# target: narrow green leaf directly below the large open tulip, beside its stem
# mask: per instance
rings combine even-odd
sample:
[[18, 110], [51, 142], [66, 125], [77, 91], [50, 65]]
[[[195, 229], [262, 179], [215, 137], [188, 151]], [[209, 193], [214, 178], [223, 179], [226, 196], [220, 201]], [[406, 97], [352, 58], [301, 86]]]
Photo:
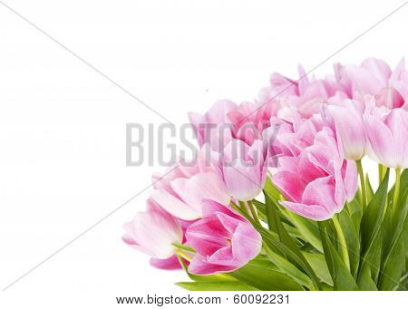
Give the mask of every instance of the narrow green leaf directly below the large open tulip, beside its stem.
[[319, 227], [325, 252], [325, 260], [333, 279], [335, 291], [358, 291], [355, 278], [348, 271], [345, 263], [330, 240], [327, 231], [330, 226], [327, 222], [319, 222]]

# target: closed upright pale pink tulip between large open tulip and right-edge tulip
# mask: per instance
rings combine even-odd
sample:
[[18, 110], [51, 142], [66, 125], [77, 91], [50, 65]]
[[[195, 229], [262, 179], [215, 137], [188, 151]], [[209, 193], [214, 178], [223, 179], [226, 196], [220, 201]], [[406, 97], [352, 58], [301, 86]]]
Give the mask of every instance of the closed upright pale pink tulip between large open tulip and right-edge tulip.
[[345, 159], [362, 159], [368, 147], [363, 122], [364, 103], [345, 100], [341, 105], [329, 105], [327, 112], [334, 121], [335, 135]]

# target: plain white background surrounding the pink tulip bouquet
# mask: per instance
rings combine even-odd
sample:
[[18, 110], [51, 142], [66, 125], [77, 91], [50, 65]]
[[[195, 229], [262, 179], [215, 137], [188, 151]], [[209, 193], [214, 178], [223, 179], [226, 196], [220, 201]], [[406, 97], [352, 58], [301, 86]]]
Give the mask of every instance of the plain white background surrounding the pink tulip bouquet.
[[[5, 4], [180, 125], [187, 111], [206, 111], [219, 99], [252, 100], [271, 72], [296, 78], [297, 63], [313, 68], [403, 2]], [[408, 55], [407, 17], [408, 5], [316, 75], [332, 72], [332, 63], [360, 63], [367, 56], [394, 66]], [[162, 120], [0, 4], [2, 289], [162, 170], [125, 166], [127, 122]], [[154, 269], [147, 256], [121, 243], [122, 223], [144, 208], [146, 197], [133, 199], [1, 292], [0, 307], [111, 308], [115, 296], [184, 293], [173, 283], [185, 275]], [[388, 301], [397, 303], [400, 295]], [[315, 304], [318, 299], [313, 295]]]

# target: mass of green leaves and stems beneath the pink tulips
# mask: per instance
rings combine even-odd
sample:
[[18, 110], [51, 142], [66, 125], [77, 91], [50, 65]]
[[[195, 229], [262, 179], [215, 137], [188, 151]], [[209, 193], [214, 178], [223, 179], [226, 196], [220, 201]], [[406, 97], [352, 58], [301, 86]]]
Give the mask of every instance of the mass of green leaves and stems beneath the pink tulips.
[[192, 282], [177, 285], [194, 291], [406, 291], [408, 171], [403, 170], [395, 203], [394, 188], [388, 191], [389, 174], [387, 170], [376, 190], [365, 177], [368, 205], [363, 208], [361, 194], [356, 194], [336, 215], [336, 225], [332, 219], [316, 222], [283, 208], [282, 195], [267, 179], [265, 202], [252, 200], [260, 223], [236, 209], [262, 236], [259, 256], [222, 275], [191, 275], [183, 265]]

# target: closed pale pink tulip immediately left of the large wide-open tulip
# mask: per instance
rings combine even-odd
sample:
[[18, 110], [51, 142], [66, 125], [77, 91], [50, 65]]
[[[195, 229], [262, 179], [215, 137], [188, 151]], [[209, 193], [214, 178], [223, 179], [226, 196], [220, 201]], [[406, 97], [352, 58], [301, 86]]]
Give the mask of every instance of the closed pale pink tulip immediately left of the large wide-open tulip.
[[228, 196], [241, 201], [255, 198], [265, 185], [267, 160], [267, 147], [262, 140], [256, 140], [252, 146], [242, 140], [231, 140], [218, 165]]

